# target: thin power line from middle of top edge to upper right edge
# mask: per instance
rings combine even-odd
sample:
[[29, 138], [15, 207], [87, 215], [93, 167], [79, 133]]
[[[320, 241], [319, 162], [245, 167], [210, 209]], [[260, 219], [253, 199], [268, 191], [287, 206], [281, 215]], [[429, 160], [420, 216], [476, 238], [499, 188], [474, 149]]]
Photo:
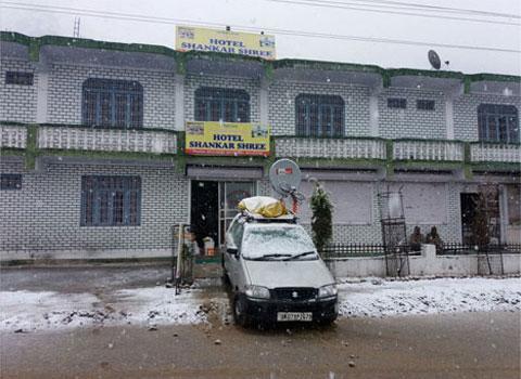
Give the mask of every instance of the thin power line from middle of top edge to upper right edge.
[[[391, 11], [391, 10], [383, 10], [383, 9], [366, 8], [366, 6], [379, 8], [378, 5], [361, 5], [364, 8], [360, 8], [359, 4], [347, 3], [347, 2], [338, 2], [338, 1], [306, 1], [306, 0], [264, 0], [264, 1], [287, 3], [287, 4], [301, 4], [301, 5], [307, 5], [307, 6], [321, 6], [321, 8], [331, 8], [331, 9], [354, 10], [354, 11], [372, 12], [372, 13], [397, 14], [397, 15], [417, 16], [417, 17], [427, 17], [427, 18], [444, 18], [444, 19], [454, 19], [454, 21], [465, 21], [465, 22], [471, 22], [471, 23], [485, 23], [485, 24], [521, 26], [521, 24], [519, 24], [519, 23], [510, 23], [510, 22], [494, 21], [494, 19], [468, 18], [468, 17], [458, 17], [458, 16], [434, 15], [434, 14], [427, 14], [427, 13], [401, 12], [401, 11]], [[353, 4], [355, 4], [355, 5], [352, 6]], [[398, 8], [398, 9], [404, 9], [404, 8]]]

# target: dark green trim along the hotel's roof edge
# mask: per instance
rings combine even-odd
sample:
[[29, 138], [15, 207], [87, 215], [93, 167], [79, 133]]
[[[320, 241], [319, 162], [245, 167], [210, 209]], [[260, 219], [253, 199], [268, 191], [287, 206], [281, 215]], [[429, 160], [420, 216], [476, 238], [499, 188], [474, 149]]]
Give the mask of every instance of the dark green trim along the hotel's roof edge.
[[[340, 62], [325, 62], [325, 61], [309, 61], [309, 60], [278, 60], [278, 61], [265, 61], [260, 57], [246, 56], [240, 54], [226, 54], [215, 52], [201, 52], [189, 51], [178, 52], [173, 49], [155, 45], [155, 44], [142, 44], [142, 43], [120, 43], [120, 42], [106, 42], [97, 41], [82, 38], [69, 38], [60, 36], [42, 36], [42, 37], [28, 37], [20, 32], [1, 31], [0, 40], [5, 42], [14, 42], [24, 44], [28, 48], [29, 60], [37, 62], [39, 60], [39, 51], [42, 45], [61, 45], [61, 47], [74, 47], [86, 49], [99, 49], [99, 50], [114, 50], [132, 53], [150, 53], [160, 54], [173, 57], [178, 65], [177, 73], [186, 74], [186, 62], [188, 60], [206, 60], [206, 61], [221, 61], [221, 62], [251, 62], [258, 63], [264, 67], [265, 73], [278, 68], [295, 68], [295, 69], [320, 69], [320, 70], [333, 70], [333, 71], [346, 71], [346, 73], [368, 73], [377, 74], [382, 77], [382, 83], [384, 88], [391, 86], [391, 78], [396, 76], [418, 76], [418, 77], [431, 77], [431, 78], [446, 78], [458, 79], [465, 83], [465, 93], [469, 93], [470, 83], [482, 80], [493, 81], [508, 81], [508, 82], [521, 82], [520, 76], [514, 75], [499, 75], [499, 74], [472, 74], [465, 75], [459, 71], [445, 71], [445, 70], [424, 70], [414, 68], [391, 68], [385, 69], [377, 65], [364, 65], [353, 63], [340, 63]], [[268, 68], [268, 70], [267, 70]]]

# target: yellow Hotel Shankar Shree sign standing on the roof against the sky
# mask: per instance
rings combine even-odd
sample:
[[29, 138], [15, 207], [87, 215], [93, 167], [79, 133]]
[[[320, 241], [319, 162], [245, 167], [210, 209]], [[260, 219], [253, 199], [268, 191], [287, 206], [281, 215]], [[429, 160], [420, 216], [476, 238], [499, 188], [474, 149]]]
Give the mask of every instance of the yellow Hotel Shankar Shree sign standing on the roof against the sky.
[[231, 30], [176, 27], [176, 50], [211, 51], [275, 60], [275, 36]]

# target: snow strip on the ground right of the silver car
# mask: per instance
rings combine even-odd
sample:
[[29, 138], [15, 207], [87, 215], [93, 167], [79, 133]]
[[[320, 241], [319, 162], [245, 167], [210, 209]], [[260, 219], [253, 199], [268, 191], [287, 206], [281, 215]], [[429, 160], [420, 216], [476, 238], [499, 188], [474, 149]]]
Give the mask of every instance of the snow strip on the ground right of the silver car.
[[445, 312], [521, 311], [519, 278], [339, 280], [340, 315], [383, 317]]

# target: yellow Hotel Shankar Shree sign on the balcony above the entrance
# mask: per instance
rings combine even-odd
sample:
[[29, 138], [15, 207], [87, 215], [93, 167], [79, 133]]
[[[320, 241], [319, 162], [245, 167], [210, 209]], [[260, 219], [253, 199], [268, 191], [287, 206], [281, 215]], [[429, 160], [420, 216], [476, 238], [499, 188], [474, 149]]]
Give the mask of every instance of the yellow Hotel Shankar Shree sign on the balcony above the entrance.
[[269, 134], [269, 127], [259, 123], [187, 121], [185, 153], [267, 157]]

